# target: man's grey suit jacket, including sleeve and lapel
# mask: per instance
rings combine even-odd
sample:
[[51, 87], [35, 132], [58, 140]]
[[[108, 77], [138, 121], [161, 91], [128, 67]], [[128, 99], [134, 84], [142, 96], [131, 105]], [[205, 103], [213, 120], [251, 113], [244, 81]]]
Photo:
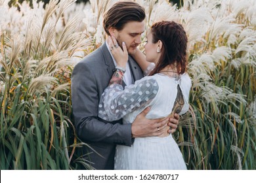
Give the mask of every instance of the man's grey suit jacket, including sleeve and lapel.
[[[133, 80], [143, 73], [139, 65], [129, 57]], [[131, 124], [121, 120], [106, 122], [98, 118], [98, 103], [108, 86], [115, 68], [114, 61], [103, 44], [75, 65], [72, 73], [72, 108], [75, 129], [81, 141], [93, 148], [83, 148], [83, 156], [95, 169], [114, 169], [116, 144], [131, 146]], [[98, 155], [100, 154], [100, 155]]]

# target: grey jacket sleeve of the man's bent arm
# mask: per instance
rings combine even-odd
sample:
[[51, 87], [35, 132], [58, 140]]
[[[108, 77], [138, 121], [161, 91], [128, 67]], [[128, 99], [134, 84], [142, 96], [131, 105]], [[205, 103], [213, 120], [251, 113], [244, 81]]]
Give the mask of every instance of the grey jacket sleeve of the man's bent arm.
[[131, 146], [131, 124], [105, 122], [98, 118], [97, 71], [81, 61], [72, 73], [72, 109], [75, 129], [82, 141], [108, 142]]

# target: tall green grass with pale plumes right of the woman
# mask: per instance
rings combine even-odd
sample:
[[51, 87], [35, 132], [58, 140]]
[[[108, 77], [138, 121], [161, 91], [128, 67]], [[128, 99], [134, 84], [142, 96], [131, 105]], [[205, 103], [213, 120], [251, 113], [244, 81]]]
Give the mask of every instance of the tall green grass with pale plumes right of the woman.
[[[194, 82], [200, 78], [202, 85], [194, 83], [190, 95], [194, 126], [179, 131], [192, 142], [182, 146], [189, 169], [256, 169], [256, 37], [255, 26], [249, 26], [244, 13], [226, 22], [227, 27], [243, 24], [236, 29], [236, 41], [229, 43], [232, 35], [226, 36], [228, 29], [213, 34], [220, 29], [216, 18], [215, 27], [205, 33], [203, 41], [190, 48], [188, 72]], [[194, 73], [197, 62], [202, 73]], [[199, 76], [204, 73], [210, 80]]]

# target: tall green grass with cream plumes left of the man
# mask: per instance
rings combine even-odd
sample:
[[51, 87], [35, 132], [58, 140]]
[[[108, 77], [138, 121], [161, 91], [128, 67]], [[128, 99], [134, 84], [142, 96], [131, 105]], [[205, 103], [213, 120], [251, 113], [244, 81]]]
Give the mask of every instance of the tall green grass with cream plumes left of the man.
[[56, 24], [74, 1], [57, 2], [43, 19], [33, 16], [25, 34], [1, 32], [0, 169], [83, 167], [74, 159], [82, 144], [72, 124], [70, 59], [89, 41], [75, 32], [74, 20], [58, 36]]

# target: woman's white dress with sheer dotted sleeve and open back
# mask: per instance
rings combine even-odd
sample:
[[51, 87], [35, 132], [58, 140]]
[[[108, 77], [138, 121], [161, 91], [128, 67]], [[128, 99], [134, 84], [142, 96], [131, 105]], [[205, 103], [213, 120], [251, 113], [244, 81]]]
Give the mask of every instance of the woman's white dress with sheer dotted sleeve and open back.
[[[123, 123], [132, 123], [136, 116], [150, 106], [147, 118], [156, 119], [171, 113], [179, 84], [184, 98], [180, 114], [188, 111], [191, 80], [187, 74], [179, 80], [166, 75], [145, 76], [125, 90], [119, 84], [108, 86], [100, 99], [98, 116]], [[167, 137], [136, 138], [131, 147], [116, 146], [114, 169], [186, 169], [181, 150], [172, 135]]]

